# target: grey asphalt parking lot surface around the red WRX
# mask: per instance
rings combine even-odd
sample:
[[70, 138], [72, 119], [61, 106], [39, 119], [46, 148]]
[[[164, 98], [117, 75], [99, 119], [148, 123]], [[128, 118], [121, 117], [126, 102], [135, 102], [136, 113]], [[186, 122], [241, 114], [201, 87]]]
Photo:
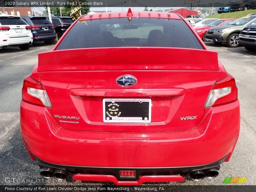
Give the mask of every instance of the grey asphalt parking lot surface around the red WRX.
[[[241, 104], [239, 140], [230, 162], [221, 165], [217, 178], [196, 182], [186, 177], [184, 183], [169, 183], [169, 185], [221, 185], [225, 177], [230, 176], [248, 177], [245, 185], [255, 185], [256, 52], [248, 52], [244, 47], [228, 48], [225, 44], [219, 46], [206, 43], [206, 45], [210, 50], [218, 52], [219, 60], [236, 79]], [[19, 105], [23, 79], [30, 74], [36, 65], [37, 54], [49, 51], [52, 47], [53, 45], [36, 43], [28, 51], [22, 51], [16, 47], [0, 50], [0, 185], [100, 184], [73, 181], [71, 177], [66, 181], [57, 183], [53, 180], [43, 180], [39, 174], [39, 166], [30, 159], [21, 139]], [[205, 61], [207, 62], [207, 59]], [[26, 179], [26, 182], [22, 182], [22, 179]], [[40, 181], [37, 182], [38, 180]]]

